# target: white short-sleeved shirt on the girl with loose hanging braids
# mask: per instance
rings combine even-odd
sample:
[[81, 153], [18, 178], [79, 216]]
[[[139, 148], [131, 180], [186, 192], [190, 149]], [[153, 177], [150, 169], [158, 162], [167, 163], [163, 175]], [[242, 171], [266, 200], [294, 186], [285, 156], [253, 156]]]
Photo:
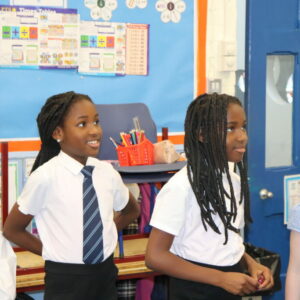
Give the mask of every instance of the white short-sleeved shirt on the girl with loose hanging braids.
[[[244, 227], [244, 205], [240, 205], [240, 179], [230, 171], [237, 202], [237, 217], [233, 225]], [[229, 192], [226, 175], [223, 185]], [[227, 199], [228, 200], [228, 199]], [[229, 204], [229, 200], [226, 202]], [[214, 232], [209, 225], [203, 227], [200, 207], [187, 177], [187, 167], [182, 168], [163, 186], [156, 197], [150, 224], [174, 235], [170, 251], [184, 259], [215, 266], [232, 266], [244, 254], [243, 239], [240, 234], [228, 230], [228, 241], [224, 245], [224, 225], [221, 219], [213, 216], [222, 234]]]

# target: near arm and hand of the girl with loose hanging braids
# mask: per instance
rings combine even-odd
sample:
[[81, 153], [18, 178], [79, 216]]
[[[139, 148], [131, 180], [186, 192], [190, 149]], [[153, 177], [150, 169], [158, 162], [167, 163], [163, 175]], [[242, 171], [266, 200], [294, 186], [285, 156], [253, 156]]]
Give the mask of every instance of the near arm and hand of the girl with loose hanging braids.
[[235, 295], [257, 290], [257, 281], [248, 275], [201, 267], [172, 254], [169, 249], [173, 239], [173, 235], [152, 228], [145, 258], [149, 268], [184, 280], [218, 286]]

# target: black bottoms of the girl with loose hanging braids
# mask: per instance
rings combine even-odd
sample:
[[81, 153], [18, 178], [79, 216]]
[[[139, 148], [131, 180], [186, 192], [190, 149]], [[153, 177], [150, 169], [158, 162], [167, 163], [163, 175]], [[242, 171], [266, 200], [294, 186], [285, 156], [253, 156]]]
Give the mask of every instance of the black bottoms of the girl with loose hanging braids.
[[[223, 272], [240, 272], [244, 270], [242, 262], [230, 267], [219, 267], [207, 264], [196, 263], [193, 264], [213, 268]], [[241, 296], [236, 296], [228, 293], [227, 291], [205, 283], [195, 281], [188, 281], [179, 278], [170, 277], [169, 286], [169, 300], [241, 300]]]

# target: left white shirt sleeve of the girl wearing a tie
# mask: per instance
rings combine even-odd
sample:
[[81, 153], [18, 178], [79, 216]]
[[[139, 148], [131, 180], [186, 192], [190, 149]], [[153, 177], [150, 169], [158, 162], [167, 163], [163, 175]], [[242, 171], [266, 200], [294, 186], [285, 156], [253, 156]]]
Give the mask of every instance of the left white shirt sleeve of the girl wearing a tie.
[[19, 210], [25, 215], [37, 215], [45, 205], [45, 195], [47, 195], [46, 177], [38, 169], [29, 177], [17, 199]]

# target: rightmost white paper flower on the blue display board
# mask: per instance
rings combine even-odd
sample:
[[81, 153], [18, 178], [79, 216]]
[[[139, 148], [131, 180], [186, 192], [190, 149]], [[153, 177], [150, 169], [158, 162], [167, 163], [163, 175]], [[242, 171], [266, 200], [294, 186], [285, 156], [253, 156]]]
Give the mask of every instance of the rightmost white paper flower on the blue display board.
[[185, 11], [186, 5], [183, 0], [158, 0], [155, 4], [156, 10], [161, 12], [160, 19], [164, 23], [170, 21], [178, 23], [181, 13]]

